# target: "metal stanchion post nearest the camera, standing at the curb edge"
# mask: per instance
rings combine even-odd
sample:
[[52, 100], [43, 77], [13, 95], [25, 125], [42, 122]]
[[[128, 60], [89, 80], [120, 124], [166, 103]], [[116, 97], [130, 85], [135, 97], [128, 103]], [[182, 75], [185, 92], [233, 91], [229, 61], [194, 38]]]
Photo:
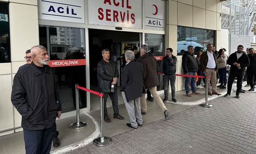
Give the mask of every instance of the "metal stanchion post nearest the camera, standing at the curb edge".
[[106, 146], [112, 142], [110, 137], [106, 137], [103, 134], [103, 121], [104, 121], [104, 102], [102, 96], [100, 97], [100, 137], [93, 140], [93, 144], [96, 146]]

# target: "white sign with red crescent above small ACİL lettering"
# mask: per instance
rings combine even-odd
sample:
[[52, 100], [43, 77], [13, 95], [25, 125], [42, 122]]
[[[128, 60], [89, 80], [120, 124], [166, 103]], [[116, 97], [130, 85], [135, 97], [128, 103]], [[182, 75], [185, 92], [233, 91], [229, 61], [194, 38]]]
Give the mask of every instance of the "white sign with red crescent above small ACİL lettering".
[[145, 0], [145, 28], [165, 30], [165, 1]]

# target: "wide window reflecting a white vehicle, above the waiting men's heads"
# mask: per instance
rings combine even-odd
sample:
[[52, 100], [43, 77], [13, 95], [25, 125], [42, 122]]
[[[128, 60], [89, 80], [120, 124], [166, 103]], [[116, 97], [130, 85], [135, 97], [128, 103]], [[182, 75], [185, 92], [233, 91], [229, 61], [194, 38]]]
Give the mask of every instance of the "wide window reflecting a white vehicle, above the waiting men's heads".
[[194, 47], [194, 54], [206, 51], [207, 44], [214, 45], [214, 38], [214, 30], [178, 26], [177, 55], [183, 55], [189, 45]]

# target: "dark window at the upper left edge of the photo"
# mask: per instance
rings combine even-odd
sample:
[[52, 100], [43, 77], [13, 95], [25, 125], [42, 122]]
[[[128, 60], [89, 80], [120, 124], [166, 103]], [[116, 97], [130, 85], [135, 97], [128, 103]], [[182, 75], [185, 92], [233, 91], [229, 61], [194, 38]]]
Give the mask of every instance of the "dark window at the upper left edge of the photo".
[[8, 4], [0, 3], [0, 63], [11, 62]]

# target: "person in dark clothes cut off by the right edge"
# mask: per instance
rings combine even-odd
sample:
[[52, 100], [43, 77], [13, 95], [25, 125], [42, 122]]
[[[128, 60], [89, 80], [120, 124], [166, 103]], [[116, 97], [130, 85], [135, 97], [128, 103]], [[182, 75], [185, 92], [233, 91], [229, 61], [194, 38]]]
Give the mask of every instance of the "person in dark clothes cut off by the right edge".
[[256, 77], [256, 56], [253, 48], [249, 49], [249, 54], [247, 54], [249, 57], [250, 65], [247, 67], [247, 75], [248, 80], [251, 86], [251, 89], [248, 91], [254, 91], [254, 77]]

